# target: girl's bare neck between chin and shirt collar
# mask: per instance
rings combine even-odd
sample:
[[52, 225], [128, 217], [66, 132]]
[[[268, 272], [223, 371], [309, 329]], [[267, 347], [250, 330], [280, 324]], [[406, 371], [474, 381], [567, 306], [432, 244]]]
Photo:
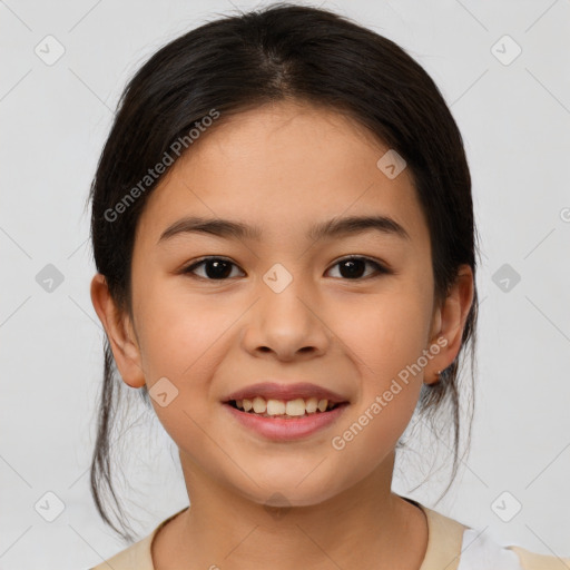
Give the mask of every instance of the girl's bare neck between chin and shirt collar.
[[281, 509], [220, 485], [180, 459], [191, 507], [164, 527], [160, 540], [156, 537], [157, 570], [421, 567], [426, 521], [391, 491], [394, 454], [365, 480], [318, 504]]

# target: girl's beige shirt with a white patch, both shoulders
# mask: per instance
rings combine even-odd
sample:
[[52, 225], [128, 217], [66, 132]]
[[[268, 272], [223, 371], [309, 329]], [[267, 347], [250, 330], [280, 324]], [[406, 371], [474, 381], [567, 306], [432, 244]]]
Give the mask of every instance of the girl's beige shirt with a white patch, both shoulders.
[[[468, 541], [465, 531], [473, 533], [470, 527], [428, 509], [416, 501], [403, 499], [422, 509], [428, 519], [428, 549], [420, 570], [568, 570], [570, 568], [570, 558], [535, 554], [521, 547], [500, 547], [490, 539], [478, 542], [471, 535]], [[161, 527], [186, 509], [188, 507], [168, 517], [144, 539], [89, 570], [155, 570], [150, 554], [153, 539]]]

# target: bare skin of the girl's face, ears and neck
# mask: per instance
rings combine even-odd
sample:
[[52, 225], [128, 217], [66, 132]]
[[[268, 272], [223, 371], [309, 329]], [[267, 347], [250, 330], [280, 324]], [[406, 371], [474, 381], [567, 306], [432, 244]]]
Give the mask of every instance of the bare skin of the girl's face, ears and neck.
[[[178, 390], [167, 406], [153, 405], [179, 449], [191, 508], [157, 534], [158, 570], [420, 568], [426, 521], [391, 491], [394, 449], [422, 383], [458, 355], [473, 275], [462, 266], [445, 302], [434, 303], [428, 225], [411, 173], [390, 179], [376, 167], [386, 150], [337, 111], [298, 101], [222, 117], [148, 198], [134, 247], [132, 318], [94, 277], [91, 299], [122, 380], [150, 390], [167, 377]], [[372, 213], [410, 239], [374, 230], [305, 238], [317, 222]], [[259, 225], [263, 239], [185, 234], [157, 244], [185, 215]], [[204, 265], [195, 277], [181, 273], [207, 255], [235, 264], [225, 281], [206, 281]], [[364, 265], [351, 278], [338, 264], [347, 255], [393, 273]], [[293, 277], [278, 294], [263, 281], [276, 263]], [[439, 337], [446, 345], [422, 372], [335, 450], [332, 438]], [[220, 403], [268, 376], [330, 387], [350, 405], [304, 440], [268, 441]], [[266, 508], [276, 492], [278, 517]]]

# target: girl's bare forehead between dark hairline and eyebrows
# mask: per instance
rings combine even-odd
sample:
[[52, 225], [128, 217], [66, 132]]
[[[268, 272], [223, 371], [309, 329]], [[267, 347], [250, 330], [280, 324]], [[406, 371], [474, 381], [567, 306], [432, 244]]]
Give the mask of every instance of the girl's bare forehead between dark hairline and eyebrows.
[[166, 226], [196, 215], [292, 237], [333, 217], [375, 214], [425, 239], [411, 173], [391, 179], [377, 167], [387, 150], [347, 116], [307, 104], [222, 115], [154, 189], [138, 230], [156, 243]]

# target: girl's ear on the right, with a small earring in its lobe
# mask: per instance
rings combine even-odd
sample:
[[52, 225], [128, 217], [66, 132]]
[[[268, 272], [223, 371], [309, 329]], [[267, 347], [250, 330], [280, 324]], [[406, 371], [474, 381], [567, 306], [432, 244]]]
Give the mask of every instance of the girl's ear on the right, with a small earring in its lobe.
[[465, 321], [473, 303], [473, 272], [469, 265], [461, 265], [458, 276], [443, 305], [435, 307], [430, 332], [430, 347], [440, 346], [440, 351], [429, 360], [424, 368], [424, 383], [438, 382], [438, 372], [446, 368], [458, 356]]

